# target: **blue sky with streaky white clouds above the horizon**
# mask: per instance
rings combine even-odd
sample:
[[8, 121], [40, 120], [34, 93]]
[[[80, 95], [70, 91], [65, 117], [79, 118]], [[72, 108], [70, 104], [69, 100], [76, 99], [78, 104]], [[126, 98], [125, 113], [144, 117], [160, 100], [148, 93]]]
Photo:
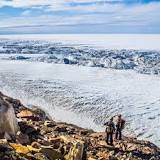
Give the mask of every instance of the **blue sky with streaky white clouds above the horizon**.
[[160, 0], [0, 0], [0, 34], [160, 33]]

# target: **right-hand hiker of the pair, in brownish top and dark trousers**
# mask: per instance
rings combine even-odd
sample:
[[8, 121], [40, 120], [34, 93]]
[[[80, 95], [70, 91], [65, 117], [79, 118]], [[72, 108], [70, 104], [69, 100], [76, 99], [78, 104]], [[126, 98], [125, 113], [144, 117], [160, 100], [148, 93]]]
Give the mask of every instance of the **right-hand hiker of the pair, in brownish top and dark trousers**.
[[118, 119], [116, 122], [116, 139], [121, 140], [122, 139], [122, 130], [124, 129], [125, 120], [122, 118], [122, 115], [118, 115]]

